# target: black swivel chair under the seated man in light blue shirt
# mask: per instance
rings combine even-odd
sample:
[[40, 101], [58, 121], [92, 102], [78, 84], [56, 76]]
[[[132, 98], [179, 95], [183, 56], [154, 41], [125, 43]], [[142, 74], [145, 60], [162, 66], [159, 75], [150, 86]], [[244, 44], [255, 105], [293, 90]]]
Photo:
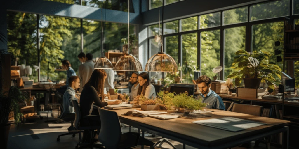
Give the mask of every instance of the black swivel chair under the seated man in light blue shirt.
[[74, 113], [68, 113], [68, 114], [61, 114], [60, 119], [62, 119], [65, 122], [71, 122], [71, 127], [68, 128], [68, 133], [61, 134], [58, 136], [57, 141], [60, 141], [60, 136], [66, 136], [66, 135], [72, 135], [73, 137], [76, 136], [76, 134], [79, 134], [79, 140], [82, 142], [81, 132], [80, 130], [74, 129], [74, 120], [75, 120], [76, 114]]

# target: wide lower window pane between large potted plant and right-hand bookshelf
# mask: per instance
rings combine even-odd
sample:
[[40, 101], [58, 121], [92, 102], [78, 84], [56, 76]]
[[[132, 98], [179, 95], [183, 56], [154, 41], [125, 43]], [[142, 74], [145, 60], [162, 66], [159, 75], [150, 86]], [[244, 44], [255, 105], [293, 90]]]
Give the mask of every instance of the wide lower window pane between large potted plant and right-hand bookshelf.
[[[275, 46], [275, 41], [280, 41], [280, 46]], [[277, 62], [274, 50], [283, 50], [283, 22], [257, 24], [252, 26], [252, 51], [270, 52], [270, 62], [283, 68], [282, 62]], [[282, 56], [282, 55], [281, 55]]]

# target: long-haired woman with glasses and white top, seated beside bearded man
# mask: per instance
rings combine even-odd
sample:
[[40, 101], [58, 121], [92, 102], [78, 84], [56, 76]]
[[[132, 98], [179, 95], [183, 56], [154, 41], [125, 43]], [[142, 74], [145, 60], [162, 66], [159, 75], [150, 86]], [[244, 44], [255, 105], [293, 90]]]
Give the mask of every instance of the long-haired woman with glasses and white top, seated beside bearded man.
[[138, 75], [139, 88], [137, 95], [143, 95], [148, 99], [154, 99], [156, 97], [155, 87], [149, 84], [149, 74], [142, 72]]

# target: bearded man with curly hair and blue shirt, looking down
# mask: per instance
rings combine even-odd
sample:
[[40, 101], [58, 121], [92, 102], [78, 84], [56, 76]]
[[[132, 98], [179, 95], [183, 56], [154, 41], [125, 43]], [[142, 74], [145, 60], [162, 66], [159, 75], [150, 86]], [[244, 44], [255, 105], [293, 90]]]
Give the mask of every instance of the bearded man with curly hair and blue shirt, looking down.
[[208, 76], [200, 76], [196, 83], [198, 89], [202, 92], [200, 94], [203, 98], [202, 102], [207, 103], [207, 108], [225, 110], [222, 98], [210, 89], [211, 79]]

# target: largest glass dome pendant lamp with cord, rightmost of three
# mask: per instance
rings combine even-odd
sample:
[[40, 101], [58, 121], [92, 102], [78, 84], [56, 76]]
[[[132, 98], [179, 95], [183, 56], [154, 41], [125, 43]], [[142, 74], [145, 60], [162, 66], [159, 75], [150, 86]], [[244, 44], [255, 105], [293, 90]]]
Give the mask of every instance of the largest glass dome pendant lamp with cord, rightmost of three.
[[[164, 13], [164, 0], [162, 3], [162, 25], [163, 25], [163, 13]], [[162, 37], [161, 42], [161, 52], [153, 55], [147, 61], [145, 65], [145, 71], [147, 72], [178, 72], [178, 66], [176, 61], [167, 53], [163, 52], [163, 28], [162, 27]], [[160, 36], [160, 2], [159, 2], [159, 36]]]

